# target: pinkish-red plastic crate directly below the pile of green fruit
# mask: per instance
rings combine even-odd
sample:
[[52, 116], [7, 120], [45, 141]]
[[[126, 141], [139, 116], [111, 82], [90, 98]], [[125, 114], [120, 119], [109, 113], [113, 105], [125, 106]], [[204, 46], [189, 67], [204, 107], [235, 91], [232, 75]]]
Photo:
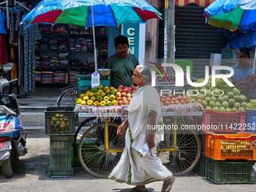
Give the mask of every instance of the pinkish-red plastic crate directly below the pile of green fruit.
[[245, 132], [246, 111], [237, 113], [215, 112], [205, 110], [203, 114], [202, 131], [215, 133], [237, 133]]

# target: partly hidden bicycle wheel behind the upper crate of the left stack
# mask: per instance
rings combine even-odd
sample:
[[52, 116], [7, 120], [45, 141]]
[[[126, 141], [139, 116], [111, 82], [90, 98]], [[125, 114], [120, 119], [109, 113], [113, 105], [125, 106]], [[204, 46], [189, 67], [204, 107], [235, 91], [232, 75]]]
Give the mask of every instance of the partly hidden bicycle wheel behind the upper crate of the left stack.
[[65, 90], [57, 99], [57, 105], [60, 106], [75, 106], [75, 99], [77, 99], [77, 87], [72, 87]]

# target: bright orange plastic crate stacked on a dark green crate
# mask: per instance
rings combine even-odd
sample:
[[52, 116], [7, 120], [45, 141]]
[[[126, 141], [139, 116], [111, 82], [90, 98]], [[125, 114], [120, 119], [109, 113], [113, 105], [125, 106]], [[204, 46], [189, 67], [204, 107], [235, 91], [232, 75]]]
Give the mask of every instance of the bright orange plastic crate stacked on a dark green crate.
[[215, 134], [206, 132], [206, 157], [214, 160], [256, 160], [253, 133]]

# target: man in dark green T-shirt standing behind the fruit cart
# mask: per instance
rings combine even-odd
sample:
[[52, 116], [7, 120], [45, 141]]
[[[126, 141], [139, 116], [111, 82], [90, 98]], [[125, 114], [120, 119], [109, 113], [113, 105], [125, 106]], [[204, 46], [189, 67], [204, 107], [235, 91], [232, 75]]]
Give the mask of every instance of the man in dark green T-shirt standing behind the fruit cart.
[[111, 69], [111, 86], [119, 85], [130, 87], [133, 85], [133, 71], [139, 66], [139, 60], [128, 53], [129, 41], [126, 36], [119, 35], [114, 38], [114, 47], [117, 54], [108, 57], [108, 69]]

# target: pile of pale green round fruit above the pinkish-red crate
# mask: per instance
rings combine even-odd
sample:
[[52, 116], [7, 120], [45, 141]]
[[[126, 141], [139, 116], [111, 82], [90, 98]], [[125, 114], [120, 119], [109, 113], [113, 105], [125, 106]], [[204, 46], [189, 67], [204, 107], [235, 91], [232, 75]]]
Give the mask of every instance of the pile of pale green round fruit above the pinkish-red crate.
[[[219, 95], [215, 91], [215, 95]], [[206, 96], [203, 99], [202, 105], [206, 110], [216, 112], [237, 112], [245, 111], [246, 97], [240, 95], [240, 91], [236, 88], [232, 92], [228, 92], [224, 96], [213, 96], [211, 91], [206, 91]]]

